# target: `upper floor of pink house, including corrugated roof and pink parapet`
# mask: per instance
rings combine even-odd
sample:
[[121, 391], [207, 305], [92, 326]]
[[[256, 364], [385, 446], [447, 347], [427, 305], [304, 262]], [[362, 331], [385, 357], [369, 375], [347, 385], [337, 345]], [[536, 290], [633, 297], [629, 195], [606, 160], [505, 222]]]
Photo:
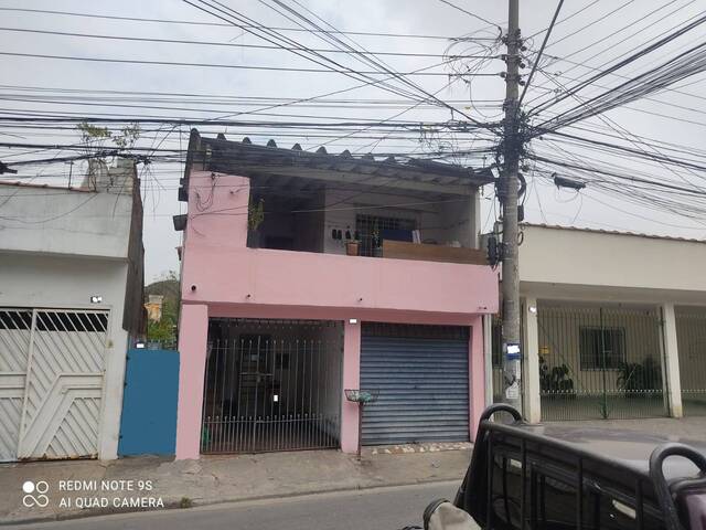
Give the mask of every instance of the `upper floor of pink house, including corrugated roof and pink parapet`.
[[492, 312], [478, 248], [488, 171], [205, 139], [192, 134], [186, 303]]

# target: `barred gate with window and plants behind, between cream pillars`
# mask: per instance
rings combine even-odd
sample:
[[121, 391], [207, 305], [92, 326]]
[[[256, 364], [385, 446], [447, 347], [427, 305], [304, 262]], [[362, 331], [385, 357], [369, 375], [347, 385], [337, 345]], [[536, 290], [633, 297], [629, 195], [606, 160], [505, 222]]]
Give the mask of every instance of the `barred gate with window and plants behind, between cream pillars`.
[[543, 420], [665, 415], [656, 308], [538, 304]]

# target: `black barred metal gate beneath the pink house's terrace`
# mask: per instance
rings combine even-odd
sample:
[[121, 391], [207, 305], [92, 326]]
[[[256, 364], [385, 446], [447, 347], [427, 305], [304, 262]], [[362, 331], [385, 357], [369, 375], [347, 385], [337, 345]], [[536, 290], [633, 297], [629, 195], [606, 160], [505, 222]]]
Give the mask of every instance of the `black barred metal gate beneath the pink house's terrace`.
[[335, 448], [342, 326], [211, 319], [201, 452]]

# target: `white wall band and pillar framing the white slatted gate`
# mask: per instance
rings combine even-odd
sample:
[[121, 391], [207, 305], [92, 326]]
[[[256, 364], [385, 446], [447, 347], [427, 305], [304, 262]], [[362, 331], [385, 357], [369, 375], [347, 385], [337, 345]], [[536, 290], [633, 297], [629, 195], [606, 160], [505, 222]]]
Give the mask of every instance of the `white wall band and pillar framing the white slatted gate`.
[[[103, 423], [98, 431], [98, 455], [117, 458], [120, 411], [128, 332], [122, 329], [125, 261], [46, 256], [0, 251], [0, 307], [107, 309], [110, 311], [106, 341]], [[101, 304], [90, 304], [100, 295]]]

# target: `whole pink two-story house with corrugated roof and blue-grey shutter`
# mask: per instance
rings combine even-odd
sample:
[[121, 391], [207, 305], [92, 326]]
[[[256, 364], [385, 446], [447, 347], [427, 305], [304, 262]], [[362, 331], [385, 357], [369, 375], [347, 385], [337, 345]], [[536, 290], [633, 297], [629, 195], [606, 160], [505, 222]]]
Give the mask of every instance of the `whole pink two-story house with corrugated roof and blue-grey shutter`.
[[[176, 458], [469, 441], [485, 404], [489, 171], [203, 138], [180, 199]], [[363, 390], [359, 407], [345, 390]]]

